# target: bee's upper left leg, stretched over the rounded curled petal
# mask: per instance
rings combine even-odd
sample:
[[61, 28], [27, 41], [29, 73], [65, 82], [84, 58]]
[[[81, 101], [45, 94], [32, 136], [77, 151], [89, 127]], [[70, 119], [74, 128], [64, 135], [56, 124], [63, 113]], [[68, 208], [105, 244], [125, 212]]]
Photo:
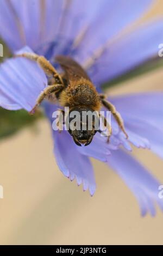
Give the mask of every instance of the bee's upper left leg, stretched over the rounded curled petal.
[[53, 76], [57, 83], [64, 85], [64, 82], [57, 70], [55, 70], [54, 66], [52, 66], [52, 64], [45, 57], [29, 52], [16, 54], [15, 57], [24, 57], [30, 60], [34, 60], [37, 62], [37, 64], [39, 64], [40, 68], [45, 72], [47, 76]]

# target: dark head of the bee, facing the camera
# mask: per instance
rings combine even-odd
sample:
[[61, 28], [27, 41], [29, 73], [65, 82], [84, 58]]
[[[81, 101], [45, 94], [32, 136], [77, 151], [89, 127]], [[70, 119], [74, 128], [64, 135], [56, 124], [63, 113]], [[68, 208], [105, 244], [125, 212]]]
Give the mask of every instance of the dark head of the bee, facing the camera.
[[99, 124], [98, 114], [91, 108], [74, 108], [69, 113], [68, 132], [78, 146], [91, 143], [98, 130], [96, 124]]

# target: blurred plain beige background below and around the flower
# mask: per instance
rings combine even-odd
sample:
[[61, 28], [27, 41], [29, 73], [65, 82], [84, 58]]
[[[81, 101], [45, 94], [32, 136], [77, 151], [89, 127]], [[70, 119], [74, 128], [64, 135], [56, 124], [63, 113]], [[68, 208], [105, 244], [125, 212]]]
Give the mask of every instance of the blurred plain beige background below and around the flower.
[[[151, 15], [163, 14], [162, 1]], [[163, 69], [109, 90], [110, 94], [163, 89]], [[97, 191], [92, 198], [60, 172], [46, 120], [0, 143], [0, 244], [163, 244], [163, 214], [140, 216], [133, 194], [104, 163], [92, 160]], [[134, 155], [163, 184], [163, 161], [148, 150]], [[73, 156], [72, 156], [73, 157]]]

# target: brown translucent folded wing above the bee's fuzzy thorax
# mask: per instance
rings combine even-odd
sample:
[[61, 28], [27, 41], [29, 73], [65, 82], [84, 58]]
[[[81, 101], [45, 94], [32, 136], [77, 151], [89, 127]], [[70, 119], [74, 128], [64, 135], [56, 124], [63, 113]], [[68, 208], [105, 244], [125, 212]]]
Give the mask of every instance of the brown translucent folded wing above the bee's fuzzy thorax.
[[55, 60], [61, 65], [62, 69], [65, 71], [66, 79], [70, 84], [73, 81], [77, 81], [82, 77], [91, 81], [82, 66], [80, 66], [72, 58], [59, 55], [55, 57]]

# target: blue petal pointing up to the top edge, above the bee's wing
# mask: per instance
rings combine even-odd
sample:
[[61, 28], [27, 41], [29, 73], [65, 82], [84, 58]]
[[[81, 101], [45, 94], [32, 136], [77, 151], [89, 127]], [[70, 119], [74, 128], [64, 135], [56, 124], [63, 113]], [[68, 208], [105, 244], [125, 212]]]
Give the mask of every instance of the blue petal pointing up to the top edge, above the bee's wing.
[[50, 53], [49, 56], [74, 54], [87, 28], [95, 20], [99, 8], [104, 3], [106, 3], [106, 0], [65, 2], [60, 13], [58, 34], [55, 36], [55, 41], [48, 52], [48, 54]]

